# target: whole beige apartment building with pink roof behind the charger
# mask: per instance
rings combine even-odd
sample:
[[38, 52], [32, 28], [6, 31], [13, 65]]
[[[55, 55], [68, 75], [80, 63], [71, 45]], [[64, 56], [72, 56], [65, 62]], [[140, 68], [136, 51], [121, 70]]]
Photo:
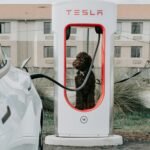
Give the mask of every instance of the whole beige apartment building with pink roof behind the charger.
[[[143, 67], [150, 59], [149, 14], [150, 5], [118, 5], [114, 34], [116, 67]], [[29, 66], [54, 67], [51, 15], [50, 5], [0, 5], [0, 44], [13, 65], [20, 66], [31, 57]], [[86, 35], [87, 31], [81, 33], [72, 28], [67, 46], [68, 67], [79, 49], [87, 49]], [[89, 49], [94, 49], [96, 38], [89, 40]]]

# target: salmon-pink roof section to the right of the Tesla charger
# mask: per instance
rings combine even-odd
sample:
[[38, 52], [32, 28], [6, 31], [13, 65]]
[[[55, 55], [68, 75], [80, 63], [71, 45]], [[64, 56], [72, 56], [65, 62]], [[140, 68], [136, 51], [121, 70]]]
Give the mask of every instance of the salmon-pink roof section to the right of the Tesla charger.
[[118, 19], [150, 20], [150, 4], [118, 5]]

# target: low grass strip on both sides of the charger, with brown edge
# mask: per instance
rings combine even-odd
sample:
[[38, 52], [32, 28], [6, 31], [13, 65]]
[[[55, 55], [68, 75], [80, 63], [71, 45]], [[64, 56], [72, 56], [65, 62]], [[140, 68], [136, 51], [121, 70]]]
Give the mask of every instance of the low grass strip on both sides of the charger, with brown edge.
[[[44, 113], [44, 135], [54, 134], [53, 112]], [[150, 141], [150, 110], [114, 114], [114, 133], [126, 140]]]

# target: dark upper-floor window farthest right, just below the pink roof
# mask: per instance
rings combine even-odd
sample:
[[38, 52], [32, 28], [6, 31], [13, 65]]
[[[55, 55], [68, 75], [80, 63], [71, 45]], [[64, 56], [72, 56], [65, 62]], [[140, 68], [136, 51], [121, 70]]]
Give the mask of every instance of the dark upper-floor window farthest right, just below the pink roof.
[[142, 34], [143, 22], [132, 22], [132, 34]]

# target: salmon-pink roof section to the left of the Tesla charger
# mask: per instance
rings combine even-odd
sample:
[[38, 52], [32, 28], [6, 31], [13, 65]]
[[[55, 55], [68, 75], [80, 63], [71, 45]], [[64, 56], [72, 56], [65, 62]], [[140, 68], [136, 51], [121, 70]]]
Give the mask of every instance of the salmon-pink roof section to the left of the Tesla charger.
[[1, 4], [1, 20], [40, 20], [51, 18], [51, 5], [47, 4]]

